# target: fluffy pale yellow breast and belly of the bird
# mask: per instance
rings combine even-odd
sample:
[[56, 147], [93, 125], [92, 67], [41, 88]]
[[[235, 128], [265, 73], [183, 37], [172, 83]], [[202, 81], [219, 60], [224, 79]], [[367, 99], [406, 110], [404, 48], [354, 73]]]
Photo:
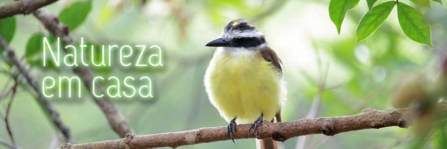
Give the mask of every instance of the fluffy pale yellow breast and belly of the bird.
[[227, 121], [237, 124], [273, 119], [285, 92], [281, 74], [259, 51], [230, 51], [219, 47], [205, 74], [211, 103]]

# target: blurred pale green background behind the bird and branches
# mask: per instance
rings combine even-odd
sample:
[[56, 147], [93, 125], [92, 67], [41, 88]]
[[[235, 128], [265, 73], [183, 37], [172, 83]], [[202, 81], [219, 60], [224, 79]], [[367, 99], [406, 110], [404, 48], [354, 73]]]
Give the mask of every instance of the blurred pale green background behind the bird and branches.
[[[59, 0], [45, 8], [58, 14], [77, 1], [82, 0]], [[12, 0], [0, 0], [0, 4], [10, 2]], [[401, 2], [412, 5], [409, 0]], [[71, 35], [76, 42], [83, 37], [84, 41], [95, 45], [161, 47], [163, 67], [93, 68], [95, 75], [116, 75], [122, 79], [144, 75], [151, 78], [154, 98], [114, 100], [137, 135], [227, 125], [208, 101], [203, 86], [205, 70], [215, 51], [205, 44], [219, 36], [229, 21], [239, 18], [245, 18], [263, 32], [284, 63], [283, 74], [289, 93], [282, 110], [283, 121], [306, 116], [352, 115], [366, 108], [394, 109], [392, 96], [399, 80], [418, 75], [428, 82], [436, 81], [441, 61], [447, 55], [446, 5], [432, 2], [434, 10], [415, 6], [431, 23], [435, 49], [417, 44], [403, 34], [396, 8], [371, 37], [356, 44], [355, 30], [368, 10], [366, 1], [361, 0], [347, 13], [340, 35], [329, 18], [328, 5], [328, 0], [92, 0], [87, 18]], [[21, 57], [34, 33], [49, 33], [32, 15], [16, 15], [15, 18], [17, 29], [10, 47]], [[5, 63], [0, 63], [0, 67], [9, 69]], [[49, 75], [74, 75], [64, 67], [59, 71], [38, 66], [31, 68], [38, 81]], [[0, 84], [8, 85], [8, 77], [7, 73], [1, 74]], [[51, 100], [63, 122], [69, 126], [75, 143], [119, 139], [83, 86], [82, 93], [83, 98], [79, 99]], [[4, 114], [9, 100], [0, 99], [0, 113]], [[20, 148], [48, 149], [64, 144], [39, 106], [26, 87], [18, 89], [11, 105], [9, 123], [15, 144]], [[312, 111], [309, 109], [315, 112], [309, 112]], [[420, 138], [415, 135], [414, 127], [390, 127], [333, 137], [310, 135], [305, 142], [298, 142], [303, 137], [292, 138], [281, 147], [442, 148], [440, 145], [446, 140], [440, 136], [446, 135], [445, 124], [431, 126], [430, 136], [423, 138], [424, 143], [417, 146]], [[434, 130], [437, 127], [440, 128]], [[0, 138], [9, 138], [3, 121], [0, 121]], [[179, 149], [255, 148], [253, 139], [235, 142]], [[2, 148], [5, 147], [0, 145]]]

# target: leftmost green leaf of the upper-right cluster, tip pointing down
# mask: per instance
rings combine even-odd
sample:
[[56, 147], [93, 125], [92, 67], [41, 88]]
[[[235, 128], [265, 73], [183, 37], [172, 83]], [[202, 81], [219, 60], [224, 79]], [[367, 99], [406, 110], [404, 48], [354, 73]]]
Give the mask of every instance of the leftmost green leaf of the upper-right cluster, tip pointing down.
[[360, 0], [331, 0], [329, 2], [329, 17], [337, 27], [337, 32], [340, 34], [341, 24], [345, 19], [346, 12], [356, 7]]

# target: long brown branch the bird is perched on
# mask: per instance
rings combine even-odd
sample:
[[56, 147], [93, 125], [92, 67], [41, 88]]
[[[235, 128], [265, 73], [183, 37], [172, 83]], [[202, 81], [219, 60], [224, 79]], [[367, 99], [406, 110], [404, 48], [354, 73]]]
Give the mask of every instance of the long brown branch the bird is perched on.
[[[438, 103], [436, 112], [446, 118], [447, 102]], [[343, 132], [379, 129], [384, 127], [398, 126], [407, 128], [412, 117], [418, 115], [415, 108], [401, 108], [395, 110], [366, 109], [362, 113], [350, 116], [303, 118], [291, 122], [271, 123], [264, 121], [258, 127], [258, 139], [273, 138], [273, 140], [284, 142], [290, 138], [311, 134], [324, 134], [333, 136]], [[253, 138], [248, 132], [250, 124], [237, 125], [234, 139]], [[65, 144], [60, 149], [146, 149], [194, 145], [217, 141], [230, 140], [226, 135], [226, 127], [200, 128], [196, 130], [135, 136], [128, 134], [123, 139], [109, 140], [96, 143], [80, 145]]]

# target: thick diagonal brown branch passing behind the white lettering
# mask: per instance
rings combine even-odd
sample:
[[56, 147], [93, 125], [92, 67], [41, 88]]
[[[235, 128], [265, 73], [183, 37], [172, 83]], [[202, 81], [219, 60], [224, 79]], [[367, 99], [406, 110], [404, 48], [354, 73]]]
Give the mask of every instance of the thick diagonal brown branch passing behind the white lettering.
[[[51, 34], [55, 37], [61, 37], [63, 44], [73, 42], [72, 37], [70, 36], [69, 29], [67, 26], [62, 24], [56, 15], [52, 14], [50, 11], [40, 8], [33, 12], [34, 16], [36, 16], [42, 24], [47, 28]], [[66, 49], [64, 49], [66, 50]], [[73, 69], [74, 74], [77, 74], [81, 77], [82, 82], [84, 83], [85, 88], [91, 92], [92, 90], [92, 78], [93, 72], [87, 68], [76, 67]], [[102, 88], [99, 84], [95, 84], [97, 88], [96, 90], [102, 91]], [[118, 134], [121, 138], [124, 138], [127, 134], [133, 133], [132, 128], [126, 122], [126, 119], [118, 111], [113, 105], [112, 101], [106, 96], [102, 98], [96, 98], [92, 96], [96, 104], [101, 108], [102, 112], [106, 116], [110, 127]]]

